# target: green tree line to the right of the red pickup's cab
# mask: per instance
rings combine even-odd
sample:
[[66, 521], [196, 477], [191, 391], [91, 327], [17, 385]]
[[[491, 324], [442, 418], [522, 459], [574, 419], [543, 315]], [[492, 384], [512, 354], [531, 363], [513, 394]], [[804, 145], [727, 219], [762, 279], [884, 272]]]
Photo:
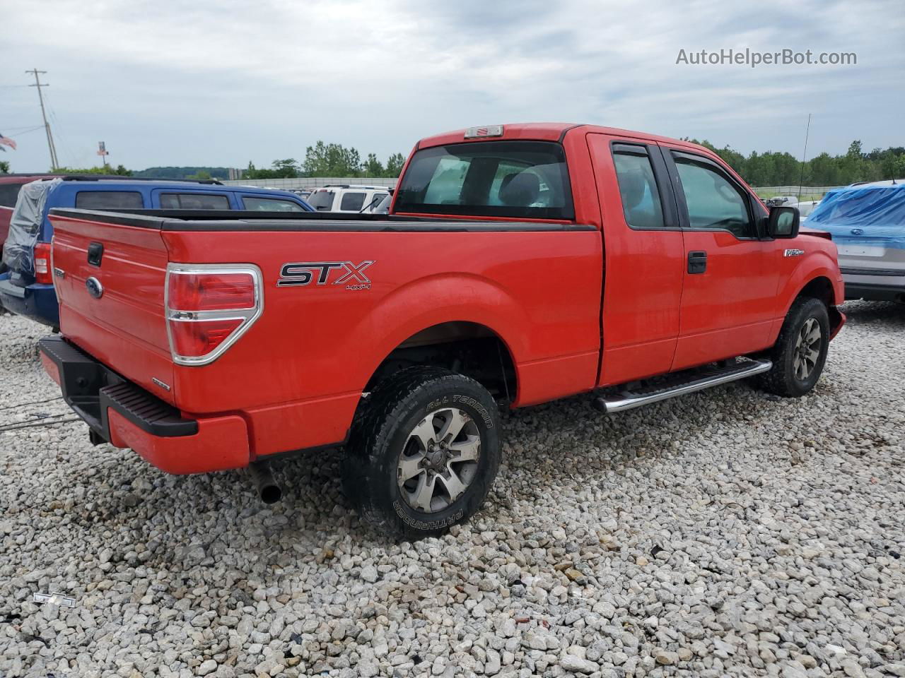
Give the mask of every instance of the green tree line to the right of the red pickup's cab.
[[905, 178], [905, 147], [874, 148], [864, 153], [860, 141], [853, 141], [844, 155], [821, 153], [804, 163], [789, 153], [767, 151], [743, 155], [724, 146], [717, 148], [709, 141], [685, 139], [707, 146], [752, 186], [844, 186], [855, 182], [875, 182]]

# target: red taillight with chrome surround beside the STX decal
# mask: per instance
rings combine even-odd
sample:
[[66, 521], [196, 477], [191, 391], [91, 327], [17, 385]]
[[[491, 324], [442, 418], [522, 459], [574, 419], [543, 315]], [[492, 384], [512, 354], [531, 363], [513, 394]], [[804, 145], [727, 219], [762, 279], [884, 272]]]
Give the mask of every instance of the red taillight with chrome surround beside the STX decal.
[[164, 304], [173, 362], [213, 363], [264, 310], [253, 264], [170, 264]]

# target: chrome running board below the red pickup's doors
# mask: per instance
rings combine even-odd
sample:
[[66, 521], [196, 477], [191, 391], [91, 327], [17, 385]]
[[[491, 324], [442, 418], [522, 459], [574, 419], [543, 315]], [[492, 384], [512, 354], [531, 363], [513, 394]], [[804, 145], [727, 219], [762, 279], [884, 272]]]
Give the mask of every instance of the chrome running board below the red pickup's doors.
[[667, 377], [665, 383], [655, 383], [646, 389], [622, 391], [615, 396], [598, 396], [594, 400], [594, 405], [598, 410], [607, 414], [633, 410], [652, 402], [660, 402], [686, 393], [710, 389], [713, 386], [729, 383], [729, 381], [753, 377], [755, 374], [767, 372], [771, 367], [773, 367], [773, 363], [768, 360], [746, 361], [731, 365], [710, 365], [684, 375], [681, 372], [671, 375], [671, 377]]

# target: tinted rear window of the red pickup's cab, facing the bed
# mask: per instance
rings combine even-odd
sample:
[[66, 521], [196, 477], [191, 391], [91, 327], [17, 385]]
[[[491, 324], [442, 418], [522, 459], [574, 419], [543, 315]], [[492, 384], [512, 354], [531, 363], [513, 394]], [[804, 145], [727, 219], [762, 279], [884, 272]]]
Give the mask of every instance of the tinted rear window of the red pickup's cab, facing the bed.
[[424, 148], [402, 177], [395, 212], [571, 220], [566, 155], [549, 141]]

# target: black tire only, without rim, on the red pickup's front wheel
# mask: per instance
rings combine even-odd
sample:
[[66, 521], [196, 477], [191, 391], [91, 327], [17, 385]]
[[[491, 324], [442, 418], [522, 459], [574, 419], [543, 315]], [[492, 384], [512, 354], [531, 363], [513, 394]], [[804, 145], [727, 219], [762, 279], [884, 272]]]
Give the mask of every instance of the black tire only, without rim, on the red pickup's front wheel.
[[[796, 342], [805, 323], [811, 318], [820, 326], [819, 355], [806, 379], [799, 379], [795, 375]], [[814, 297], [798, 297], [789, 308], [776, 344], [764, 356], [773, 361], [773, 367], [757, 378], [757, 385], [765, 391], [786, 398], [806, 395], [814, 388], [821, 372], [824, 371], [829, 344], [830, 318], [826, 305]]]

